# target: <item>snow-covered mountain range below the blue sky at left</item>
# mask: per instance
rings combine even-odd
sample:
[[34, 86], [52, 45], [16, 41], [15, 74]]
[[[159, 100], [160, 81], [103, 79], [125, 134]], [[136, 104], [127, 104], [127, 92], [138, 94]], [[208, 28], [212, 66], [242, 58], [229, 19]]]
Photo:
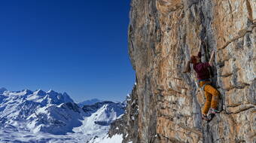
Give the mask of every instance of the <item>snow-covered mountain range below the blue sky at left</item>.
[[[67, 93], [53, 90], [12, 92], [1, 88], [0, 142], [31, 141], [33, 138], [42, 142], [60, 139], [61, 142], [63, 137], [75, 139], [75, 142], [87, 141], [105, 135], [110, 123], [122, 116], [124, 108], [124, 103], [109, 101], [81, 108]], [[12, 133], [15, 135], [10, 138]]]

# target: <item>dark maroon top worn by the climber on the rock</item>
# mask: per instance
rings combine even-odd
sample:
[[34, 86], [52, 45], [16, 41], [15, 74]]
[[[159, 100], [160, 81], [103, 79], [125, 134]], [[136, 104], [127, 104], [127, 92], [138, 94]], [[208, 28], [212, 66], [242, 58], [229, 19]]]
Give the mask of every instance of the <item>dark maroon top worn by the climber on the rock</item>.
[[[201, 52], [199, 52], [197, 56], [201, 58], [202, 56]], [[205, 80], [210, 78], [210, 72], [208, 70], [208, 67], [210, 66], [211, 65], [209, 64], [209, 62], [201, 62], [201, 61], [193, 65], [194, 70], [197, 72], [198, 80]]]

